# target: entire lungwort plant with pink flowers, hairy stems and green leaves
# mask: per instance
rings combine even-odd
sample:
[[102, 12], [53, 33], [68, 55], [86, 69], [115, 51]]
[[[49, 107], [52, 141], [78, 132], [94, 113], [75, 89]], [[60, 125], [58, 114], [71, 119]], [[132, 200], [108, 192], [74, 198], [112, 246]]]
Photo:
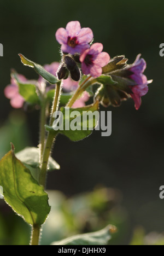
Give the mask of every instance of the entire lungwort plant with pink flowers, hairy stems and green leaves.
[[[15, 154], [11, 144], [10, 152], [0, 161], [4, 200], [32, 226], [31, 245], [39, 244], [40, 230], [51, 210], [45, 184], [48, 172], [60, 168], [51, 158], [58, 134], [72, 141], [89, 136], [99, 118], [95, 114], [89, 120], [87, 114], [98, 113], [99, 104], [118, 107], [132, 98], [139, 109], [141, 97], [147, 94], [151, 83], [143, 74], [146, 62], [140, 55], [131, 65], [124, 55], [110, 59], [101, 43], [93, 43], [92, 30], [81, 28], [78, 21], [69, 22], [66, 29], [59, 28], [56, 40], [61, 44], [60, 63], [42, 67], [19, 54], [21, 62], [38, 73], [38, 80], [28, 80], [13, 70], [11, 84], [4, 91], [13, 108], [29, 105], [40, 108], [39, 147], [25, 148]], [[92, 104], [87, 104], [89, 100]], [[83, 114], [85, 119], [81, 118]], [[96, 233], [54, 244], [105, 245], [113, 230], [107, 226]]]

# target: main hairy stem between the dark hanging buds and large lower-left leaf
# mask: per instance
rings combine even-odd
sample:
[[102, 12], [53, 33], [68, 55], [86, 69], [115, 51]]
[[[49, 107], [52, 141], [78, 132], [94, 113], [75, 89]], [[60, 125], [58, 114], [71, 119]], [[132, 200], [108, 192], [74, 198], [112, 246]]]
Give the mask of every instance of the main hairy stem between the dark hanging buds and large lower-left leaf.
[[[50, 126], [52, 126], [52, 124], [53, 124], [53, 113], [58, 109], [58, 103], [59, 103], [59, 100], [60, 100], [60, 91], [61, 91], [61, 82], [58, 82], [56, 84], [54, 102], [52, 104]], [[44, 146], [44, 150], [43, 150], [42, 162], [41, 162], [41, 165], [40, 165], [39, 183], [43, 187], [45, 187], [48, 160], [49, 160], [49, 156], [50, 156], [50, 153], [51, 153], [52, 144], [54, 143], [54, 141], [55, 141], [54, 132], [49, 131], [48, 132], [48, 137], [46, 139], [46, 143], [45, 143], [45, 146]]]

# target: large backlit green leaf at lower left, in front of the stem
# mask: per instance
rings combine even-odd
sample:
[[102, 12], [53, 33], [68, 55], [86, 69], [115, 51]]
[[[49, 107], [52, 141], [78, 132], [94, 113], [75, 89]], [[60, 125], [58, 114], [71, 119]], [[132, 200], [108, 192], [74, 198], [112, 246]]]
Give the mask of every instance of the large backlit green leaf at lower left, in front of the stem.
[[0, 161], [5, 202], [31, 225], [42, 225], [50, 212], [48, 195], [10, 150]]

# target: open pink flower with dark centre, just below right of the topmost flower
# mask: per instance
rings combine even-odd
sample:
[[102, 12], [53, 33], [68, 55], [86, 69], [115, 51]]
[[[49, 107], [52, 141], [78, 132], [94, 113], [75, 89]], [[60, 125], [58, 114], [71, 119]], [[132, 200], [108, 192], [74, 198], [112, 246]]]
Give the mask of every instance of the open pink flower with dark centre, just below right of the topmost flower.
[[102, 67], [110, 60], [107, 53], [102, 52], [103, 45], [95, 43], [90, 49], [84, 50], [80, 55], [81, 69], [84, 74], [91, 74], [92, 77], [99, 77], [102, 74]]

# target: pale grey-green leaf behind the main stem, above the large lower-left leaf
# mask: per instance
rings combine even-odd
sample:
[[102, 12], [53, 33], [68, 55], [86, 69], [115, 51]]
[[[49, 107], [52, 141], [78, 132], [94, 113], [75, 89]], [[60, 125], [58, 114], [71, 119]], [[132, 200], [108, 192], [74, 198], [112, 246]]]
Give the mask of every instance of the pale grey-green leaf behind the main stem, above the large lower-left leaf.
[[[39, 168], [39, 149], [34, 147], [27, 147], [24, 150], [16, 153], [16, 157], [26, 165], [31, 166], [32, 168]], [[57, 162], [51, 158], [49, 158], [48, 162], [48, 170], [60, 170], [60, 165], [57, 164]]]

